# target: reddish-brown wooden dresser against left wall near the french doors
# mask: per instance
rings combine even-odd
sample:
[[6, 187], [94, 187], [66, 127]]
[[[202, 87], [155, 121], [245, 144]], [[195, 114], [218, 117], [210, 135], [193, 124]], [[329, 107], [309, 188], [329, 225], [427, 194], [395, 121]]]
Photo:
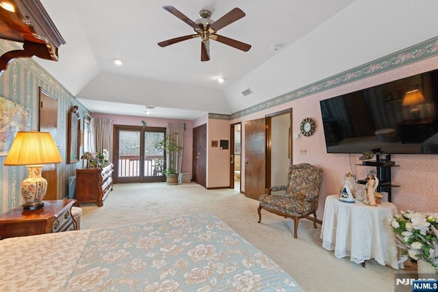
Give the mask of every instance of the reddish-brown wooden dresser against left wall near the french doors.
[[95, 202], [98, 207], [103, 206], [103, 200], [112, 191], [113, 167], [110, 163], [103, 168], [76, 170], [75, 206], [86, 202]]

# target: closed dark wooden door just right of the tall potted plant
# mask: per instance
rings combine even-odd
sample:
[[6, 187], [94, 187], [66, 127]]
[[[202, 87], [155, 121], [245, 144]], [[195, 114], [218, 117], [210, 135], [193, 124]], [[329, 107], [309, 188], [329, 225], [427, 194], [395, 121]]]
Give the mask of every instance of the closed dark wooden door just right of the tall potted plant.
[[193, 129], [193, 178], [203, 187], [207, 186], [207, 124]]

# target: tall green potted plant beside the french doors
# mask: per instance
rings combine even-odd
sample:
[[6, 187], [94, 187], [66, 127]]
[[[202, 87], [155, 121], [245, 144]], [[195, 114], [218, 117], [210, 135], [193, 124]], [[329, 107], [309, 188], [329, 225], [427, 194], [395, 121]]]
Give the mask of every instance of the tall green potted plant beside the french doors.
[[177, 185], [178, 170], [176, 159], [181, 155], [183, 147], [177, 143], [175, 134], [165, 135], [162, 140], [155, 142], [154, 148], [166, 152], [166, 159], [163, 159], [165, 165], [163, 173], [166, 175], [166, 183], [168, 185]]

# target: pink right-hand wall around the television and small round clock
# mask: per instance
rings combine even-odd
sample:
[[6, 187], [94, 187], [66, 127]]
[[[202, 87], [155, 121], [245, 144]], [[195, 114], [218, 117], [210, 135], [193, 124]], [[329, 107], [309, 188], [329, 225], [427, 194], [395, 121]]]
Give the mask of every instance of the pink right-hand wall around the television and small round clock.
[[[244, 122], [246, 120], [262, 118], [266, 114], [272, 114], [282, 109], [292, 107], [293, 133], [299, 132], [299, 125], [302, 119], [312, 118], [315, 121], [316, 130], [313, 135], [310, 137], [300, 137], [299, 140], [292, 140], [292, 159], [294, 164], [307, 162], [318, 165], [323, 169], [320, 208], [318, 209], [318, 218], [322, 219], [325, 198], [331, 194], [337, 194], [339, 187], [342, 186], [344, 174], [353, 172], [357, 175], [357, 178], [365, 178], [370, 168], [355, 165], [359, 163], [359, 154], [328, 154], [326, 152], [319, 101], [428, 70], [434, 70], [437, 68], [437, 64], [438, 57], [433, 57], [397, 70], [391, 70], [277, 107], [259, 111], [255, 114], [236, 118], [230, 123], [242, 122], [242, 139], [244, 140]], [[242, 141], [242, 144], [244, 144], [244, 141]], [[307, 155], [300, 155], [298, 153], [300, 148], [307, 148]], [[244, 147], [242, 147], [242, 160], [244, 155]], [[392, 202], [396, 204], [398, 210], [410, 209], [414, 211], [436, 212], [438, 210], [438, 155], [392, 155], [391, 159], [396, 161], [397, 165], [400, 165], [399, 167], [392, 168], [392, 182], [395, 185], [401, 186], [392, 189]], [[244, 191], [244, 168], [242, 168], [241, 179], [242, 191]]]

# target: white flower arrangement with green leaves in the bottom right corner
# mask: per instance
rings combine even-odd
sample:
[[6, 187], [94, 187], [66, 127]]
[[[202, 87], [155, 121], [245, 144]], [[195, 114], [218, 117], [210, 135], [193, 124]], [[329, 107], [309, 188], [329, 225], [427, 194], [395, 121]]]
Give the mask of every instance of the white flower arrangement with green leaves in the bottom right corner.
[[438, 213], [402, 211], [391, 220], [391, 226], [397, 245], [404, 250], [400, 262], [423, 260], [438, 274]]

